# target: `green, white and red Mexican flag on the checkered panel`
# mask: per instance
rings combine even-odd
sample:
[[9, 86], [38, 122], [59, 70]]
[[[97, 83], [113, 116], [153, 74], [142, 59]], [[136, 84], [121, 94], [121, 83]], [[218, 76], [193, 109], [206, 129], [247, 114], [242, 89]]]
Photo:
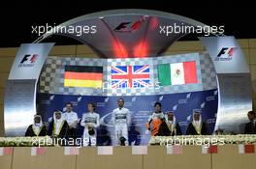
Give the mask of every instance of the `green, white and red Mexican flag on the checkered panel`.
[[196, 61], [158, 65], [160, 86], [198, 83]]

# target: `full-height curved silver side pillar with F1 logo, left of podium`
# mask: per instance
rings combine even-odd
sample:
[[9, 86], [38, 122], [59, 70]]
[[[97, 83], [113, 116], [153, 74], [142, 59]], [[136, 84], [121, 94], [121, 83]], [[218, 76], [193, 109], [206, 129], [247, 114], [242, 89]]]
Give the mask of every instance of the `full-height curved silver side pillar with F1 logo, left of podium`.
[[54, 45], [21, 44], [5, 88], [5, 135], [21, 136], [36, 113], [36, 91], [40, 72]]

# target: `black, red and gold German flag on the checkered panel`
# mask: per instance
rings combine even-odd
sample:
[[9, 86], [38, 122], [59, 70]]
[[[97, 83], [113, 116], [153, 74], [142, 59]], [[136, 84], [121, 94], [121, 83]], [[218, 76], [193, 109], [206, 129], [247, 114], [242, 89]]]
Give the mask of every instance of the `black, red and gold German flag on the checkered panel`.
[[65, 66], [65, 87], [102, 88], [103, 67]]

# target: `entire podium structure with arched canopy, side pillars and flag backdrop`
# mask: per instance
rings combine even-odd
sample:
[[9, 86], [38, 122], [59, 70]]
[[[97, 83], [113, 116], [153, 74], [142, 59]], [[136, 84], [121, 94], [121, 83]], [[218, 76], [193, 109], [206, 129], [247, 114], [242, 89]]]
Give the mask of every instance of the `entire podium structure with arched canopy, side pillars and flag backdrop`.
[[[99, 144], [111, 145], [110, 116], [119, 97], [132, 112], [130, 144], [147, 144], [144, 123], [155, 101], [163, 103], [164, 111], [176, 113], [183, 132], [191, 114], [200, 111], [211, 132], [221, 127], [242, 133], [252, 103], [250, 72], [240, 45], [234, 37], [209, 31], [210, 36], [199, 38], [205, 52], [164, 56], [168, 47], [189, 34], [170, 33], [175, 26], [207, 27], [176, 14], [114, 10], [71, 19], [37, 41], [21, 44], [5, 92], [6, 135], [23, 135], [36, 112], [48, 122], [53, 110], [62, 110], [67, 101], [75, 104], [81, 116], [91, 100], [101, 115]], [[99, 58], [48, 56], [54, 42], [44, 41], [53, 35], [78, 40]], [[68, 70], [92, 67], [102, 74], [97, 82], [68, 79]], [[165, 81], [167, 74], [173, 80]], [[183, 80], [174, 80], [181, 76]]]

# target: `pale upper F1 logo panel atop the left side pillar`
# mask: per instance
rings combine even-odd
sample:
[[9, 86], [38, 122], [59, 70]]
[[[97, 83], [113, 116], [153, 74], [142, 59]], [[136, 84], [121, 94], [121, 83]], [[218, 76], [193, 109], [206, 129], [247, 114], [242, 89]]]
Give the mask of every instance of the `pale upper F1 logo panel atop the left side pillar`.
[[52, 42], [21, 44], [8, 79], [38, 79], [53, 44]]

